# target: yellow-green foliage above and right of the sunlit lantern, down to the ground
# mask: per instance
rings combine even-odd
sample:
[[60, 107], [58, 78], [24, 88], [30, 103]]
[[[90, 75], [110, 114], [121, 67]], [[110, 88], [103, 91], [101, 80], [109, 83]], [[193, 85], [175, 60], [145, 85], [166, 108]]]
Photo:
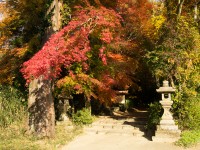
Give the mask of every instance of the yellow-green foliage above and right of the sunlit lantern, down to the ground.
[[196, 129], [199, 124], [200, 35], [187, 17], [165, 22], [153, 51], [146, 54], [157, 79], [171, 81], [176, 90], [173, 112], [182, 129]]

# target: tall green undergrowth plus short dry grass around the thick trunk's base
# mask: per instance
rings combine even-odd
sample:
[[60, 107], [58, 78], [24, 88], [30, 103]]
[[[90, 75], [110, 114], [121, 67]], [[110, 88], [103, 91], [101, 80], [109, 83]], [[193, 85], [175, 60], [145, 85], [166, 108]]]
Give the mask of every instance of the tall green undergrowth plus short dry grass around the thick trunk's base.
[[17, 89], [0, 85], [0, 150], [56, 150], [82, 132], [68, 122], [57, 122], [53, 139], [26, 134], [27, 111]]

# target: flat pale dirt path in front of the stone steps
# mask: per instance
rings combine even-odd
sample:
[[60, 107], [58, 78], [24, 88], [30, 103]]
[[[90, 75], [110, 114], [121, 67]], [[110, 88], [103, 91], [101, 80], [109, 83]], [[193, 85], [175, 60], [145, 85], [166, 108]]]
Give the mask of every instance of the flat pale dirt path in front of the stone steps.
[[173, 143], [152, 142], [131, 135], [83, 134], [61, 150], [200, 150], [200, 145], [184, 149]]

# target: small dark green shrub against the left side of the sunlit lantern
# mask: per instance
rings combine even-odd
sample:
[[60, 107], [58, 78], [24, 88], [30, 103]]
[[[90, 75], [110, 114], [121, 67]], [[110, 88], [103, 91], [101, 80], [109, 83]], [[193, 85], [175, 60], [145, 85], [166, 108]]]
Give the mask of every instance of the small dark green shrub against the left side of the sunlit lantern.
[[155, 129], [156, 125], [160, 123], [163, 113], [162, 105], [159, 102], [154, 102], [149, 105], [149, 116], [146, 128], [148, 130]]

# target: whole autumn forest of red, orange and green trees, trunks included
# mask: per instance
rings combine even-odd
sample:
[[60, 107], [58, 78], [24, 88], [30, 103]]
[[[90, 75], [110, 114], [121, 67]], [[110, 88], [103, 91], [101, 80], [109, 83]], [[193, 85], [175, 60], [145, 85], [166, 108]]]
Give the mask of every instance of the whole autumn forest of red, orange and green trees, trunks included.
[[53, 137], [63, 97], [109, 107], [116, 91], [128, 90], [144, 107], [168, 80], [180, 129], [199, 131], [199, 7], [198, 0], [1, 1], [0, 127], [29, 114], [29, 134]]

